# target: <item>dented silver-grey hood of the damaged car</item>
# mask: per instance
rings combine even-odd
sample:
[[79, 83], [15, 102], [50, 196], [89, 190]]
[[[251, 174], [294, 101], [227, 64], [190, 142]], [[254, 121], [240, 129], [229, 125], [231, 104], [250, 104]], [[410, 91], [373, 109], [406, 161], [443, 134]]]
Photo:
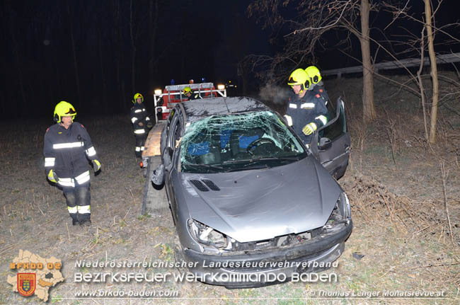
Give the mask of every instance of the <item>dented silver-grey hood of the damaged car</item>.
[[[190, 217], [239, 242], [323, 226], [342, 192], [312, 156], [263, 170], [179, 173], [179, 177]], [[203, 179], [211, 180], [219, 190], [191, 182]]]

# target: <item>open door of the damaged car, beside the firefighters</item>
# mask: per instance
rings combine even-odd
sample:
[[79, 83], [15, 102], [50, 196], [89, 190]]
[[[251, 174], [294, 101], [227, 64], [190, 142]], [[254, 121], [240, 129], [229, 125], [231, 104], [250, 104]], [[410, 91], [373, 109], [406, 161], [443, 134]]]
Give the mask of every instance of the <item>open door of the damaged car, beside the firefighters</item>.
[[310, 149], [316, 159], [335, 179], [340, 179], [350, 159], [350, 134], [345, 120], [345, 104], [337, 99], [335, 107], [328, 103], [328, 123], [318, 128], [311, 139]]

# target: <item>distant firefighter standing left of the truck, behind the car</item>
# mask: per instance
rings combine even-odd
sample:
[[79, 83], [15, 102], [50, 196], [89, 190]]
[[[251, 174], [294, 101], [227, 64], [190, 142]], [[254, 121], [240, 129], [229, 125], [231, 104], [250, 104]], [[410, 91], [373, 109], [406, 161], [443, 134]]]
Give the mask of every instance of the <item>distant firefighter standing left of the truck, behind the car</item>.
[[131, 108], [131, 122], [134, 128], [134, 136], [136, 137], [136, 147], [134, 155], [138, 158], [142, 157], [144, 151], [145, 139], [147, 137], [147, 127], [151, 125], [150, 117], [144, 108], [144, 96], [141, 93], [134, 94], [134, 105]]

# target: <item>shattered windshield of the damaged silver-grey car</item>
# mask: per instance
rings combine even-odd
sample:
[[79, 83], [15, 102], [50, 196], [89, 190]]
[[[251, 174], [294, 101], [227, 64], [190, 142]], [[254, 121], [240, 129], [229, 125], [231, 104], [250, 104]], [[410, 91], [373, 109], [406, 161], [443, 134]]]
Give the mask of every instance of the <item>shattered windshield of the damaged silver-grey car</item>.
[[190, 123], [180, 140], [181, 171], [219, 173], [282, 166], [305, 149], [270, 111], [215, 115]]

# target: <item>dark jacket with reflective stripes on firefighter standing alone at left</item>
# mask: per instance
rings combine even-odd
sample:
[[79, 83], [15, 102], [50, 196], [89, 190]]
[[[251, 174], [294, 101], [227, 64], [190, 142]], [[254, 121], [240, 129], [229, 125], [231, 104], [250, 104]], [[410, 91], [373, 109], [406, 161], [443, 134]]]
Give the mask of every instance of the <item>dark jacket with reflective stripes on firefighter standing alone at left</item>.
[[90, 180], [88, 159], [98, 159], [91, 138], [83, 125], [73, 122], [69, 129], [59, 123], [45, 133], [45, 171], [52, 169], [62, 187], [74, 188]]

